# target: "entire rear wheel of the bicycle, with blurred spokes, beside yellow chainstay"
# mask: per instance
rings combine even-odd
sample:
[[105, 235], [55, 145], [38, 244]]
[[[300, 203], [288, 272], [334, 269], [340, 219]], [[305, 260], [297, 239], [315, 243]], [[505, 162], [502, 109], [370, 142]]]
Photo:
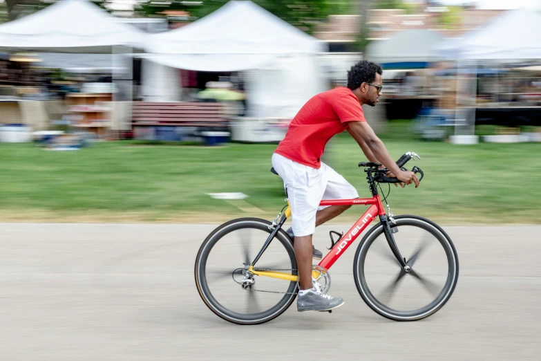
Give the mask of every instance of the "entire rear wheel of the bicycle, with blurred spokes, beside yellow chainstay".
[[[239, 284], [272, 232], [270, 224], [256, 218], [234, 219], [213, 230], [201, 245], [195, 265], [196, 286], [203, 302], [224, 320], [262, 324], [281, 315], [296, 297], [294, 281], [254, 276], [251, 286]], [[297, 275], [293, 245], [283, 230], [276, 233], [256, 268]]]

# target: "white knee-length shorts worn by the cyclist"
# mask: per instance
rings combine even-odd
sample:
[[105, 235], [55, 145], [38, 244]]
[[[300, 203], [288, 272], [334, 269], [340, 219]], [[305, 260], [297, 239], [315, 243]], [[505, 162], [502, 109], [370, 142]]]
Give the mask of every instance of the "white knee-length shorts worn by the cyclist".
[[272, 167], [287, 189], [296, 237], [314, 234], [316, 212], [325, 208], [319, 205], [322, 199], [359, 198], [357, 189], [323, 162], [319, 169], [315, 169], [274, 153]]

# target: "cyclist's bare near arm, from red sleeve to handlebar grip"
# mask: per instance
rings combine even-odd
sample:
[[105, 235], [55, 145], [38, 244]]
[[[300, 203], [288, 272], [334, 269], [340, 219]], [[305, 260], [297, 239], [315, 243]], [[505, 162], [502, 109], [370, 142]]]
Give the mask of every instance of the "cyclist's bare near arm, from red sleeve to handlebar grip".
[[419, 187], [419, 180], [417, 180], [415, 173], [404, 172], [398, 167], [397, 163], [390, 157], [383, 142], [376, 136], [376, 133], [374, 133], [372, 127], [367, 122], [349, 122], [348, 124], [350, 126], [348, 132], [357, 140], [370, 162], [385, 165], [399, 180], [402, 180], [406, 184], [413, 182], [415, 183], [415, 187]]

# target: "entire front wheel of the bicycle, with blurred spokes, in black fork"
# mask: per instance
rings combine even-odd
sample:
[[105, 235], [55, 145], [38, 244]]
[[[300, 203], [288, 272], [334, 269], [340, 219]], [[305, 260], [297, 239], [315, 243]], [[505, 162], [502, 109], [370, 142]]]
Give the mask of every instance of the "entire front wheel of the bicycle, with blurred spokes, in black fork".
[[395, 221], [395, 243], [410, 270], [404, 270], [392, 254], [379, 223], [357, 248], [355, 284], [364, 302], [379, 315], [395, 321], [421, 320], [442, 308], [453, 294], [457, 252], [444, 230], [428, 219], [397, 216]]

